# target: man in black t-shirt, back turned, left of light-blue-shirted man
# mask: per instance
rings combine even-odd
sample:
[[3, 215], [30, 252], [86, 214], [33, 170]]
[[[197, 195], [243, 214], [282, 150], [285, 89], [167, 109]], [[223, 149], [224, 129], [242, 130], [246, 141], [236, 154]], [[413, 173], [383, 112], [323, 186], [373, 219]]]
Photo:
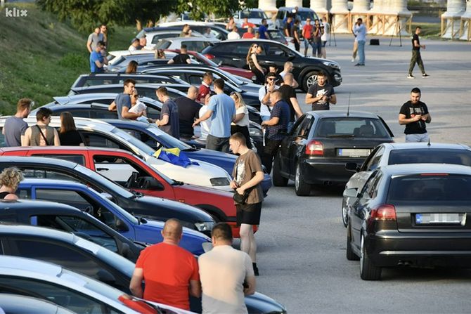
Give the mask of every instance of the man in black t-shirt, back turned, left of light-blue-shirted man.
[[179, 107], [180, 136], [191, 138], [193, 136], [193, 122], [200, 117], [201, 105], [195, 101], [198, 96], [198, 89], [190, 86], [186, 96], [175, 99], [176, 106]]

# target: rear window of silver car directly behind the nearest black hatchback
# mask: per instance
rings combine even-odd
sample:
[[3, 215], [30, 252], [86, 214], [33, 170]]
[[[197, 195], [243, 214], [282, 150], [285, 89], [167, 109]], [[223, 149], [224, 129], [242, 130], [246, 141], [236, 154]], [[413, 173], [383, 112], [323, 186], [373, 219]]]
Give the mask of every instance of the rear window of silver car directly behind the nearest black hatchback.
[[471, 166], [471, 150], [412, 149], [392, 150], [387, 164], [463, 164]]

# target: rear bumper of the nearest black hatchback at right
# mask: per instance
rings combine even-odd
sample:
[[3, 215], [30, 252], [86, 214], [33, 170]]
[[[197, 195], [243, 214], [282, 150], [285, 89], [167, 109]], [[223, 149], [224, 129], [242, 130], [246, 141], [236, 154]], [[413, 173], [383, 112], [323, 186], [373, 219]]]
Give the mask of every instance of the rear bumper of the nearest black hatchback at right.
[[370, 235], [366, 252], [375, 266], [470, 267], [471, 233]]

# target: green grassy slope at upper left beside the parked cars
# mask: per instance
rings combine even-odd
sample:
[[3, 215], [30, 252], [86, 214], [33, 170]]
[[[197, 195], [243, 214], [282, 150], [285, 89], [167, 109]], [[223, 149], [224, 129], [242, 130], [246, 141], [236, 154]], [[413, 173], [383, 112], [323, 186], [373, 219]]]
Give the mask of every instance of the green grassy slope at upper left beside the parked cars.
[[[69, 22], [40, 11], [34, 4], [6, 4], [27, 9], [27, 17], [0, 15], [0, 115], [16, 111], [20, 98], [44, 105], [64, 96], [79, 74], [89, 73], [88, 34]], [[3, 15], [3, 16], [2, 16]], [[135, 27], [114, 27], [110, 48], [122, 50], [136, 34]]]

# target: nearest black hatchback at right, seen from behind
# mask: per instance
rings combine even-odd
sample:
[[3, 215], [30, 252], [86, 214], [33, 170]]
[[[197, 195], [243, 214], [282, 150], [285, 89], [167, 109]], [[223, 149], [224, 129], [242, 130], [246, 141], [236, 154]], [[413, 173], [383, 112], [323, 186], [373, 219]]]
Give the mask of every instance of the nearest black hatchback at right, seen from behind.
[[347, 259], [363, 280], [383, 267], [471, 262], [471, 169], [455, 164], [381, 167], [361, 190], [347, 189]]

